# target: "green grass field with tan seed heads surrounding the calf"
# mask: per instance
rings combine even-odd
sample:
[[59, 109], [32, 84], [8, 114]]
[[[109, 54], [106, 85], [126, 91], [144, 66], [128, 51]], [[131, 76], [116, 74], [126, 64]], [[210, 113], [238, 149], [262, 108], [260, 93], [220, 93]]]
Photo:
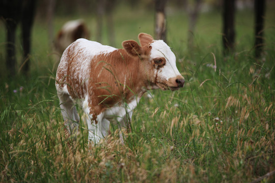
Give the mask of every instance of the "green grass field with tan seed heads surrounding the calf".
[[[45, 21], [35, 21], [30, 76], [12, 79], [6, 77], [2, 23], [0, 181], [250, 182], [273, 171], [274, 5], [267, 7], [261, 59], [254, 58], [252, 10], [237, 12], [236, 50], [227, 57], [221, 47], [221, 13], [201, 14], [194, 48], [188, 49], [187, 17], [179, 10], [170, 12], [168, 42], [185, 87], [176, 92], [151, 91], [153, 98], [145, 94], [134, 110], [125, 145], [112, 125], [111, 135], [95, 147], [88, 146], [82, 121], [76, 139], [65, 137], [54, 86], [58, 61], [48, 47]], [[153, 12], [122, 8], [115, 14], [117, 47], [124, 40], [137, 40], [140, 32], [153, 34]], [[55, 30], [79, 17], [95, 32], [91, 15], [57, 16]], [[20, 60], [22, 48], [17, 42]], [[108, 44], [106, 31], [103, 44]], [[275, 177], [262, 181], [274, 182]]]

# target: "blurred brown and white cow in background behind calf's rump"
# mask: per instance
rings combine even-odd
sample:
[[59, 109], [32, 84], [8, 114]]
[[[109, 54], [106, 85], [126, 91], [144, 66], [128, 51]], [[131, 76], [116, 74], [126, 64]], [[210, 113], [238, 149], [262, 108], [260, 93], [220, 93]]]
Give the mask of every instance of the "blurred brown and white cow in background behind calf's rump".
[[55, 47], [62, 55], [63, 51], [75, 40], [79, 38], [89, 39], [89, 29], [83, 20], [71, 20], [66, 22], [58, 32]]

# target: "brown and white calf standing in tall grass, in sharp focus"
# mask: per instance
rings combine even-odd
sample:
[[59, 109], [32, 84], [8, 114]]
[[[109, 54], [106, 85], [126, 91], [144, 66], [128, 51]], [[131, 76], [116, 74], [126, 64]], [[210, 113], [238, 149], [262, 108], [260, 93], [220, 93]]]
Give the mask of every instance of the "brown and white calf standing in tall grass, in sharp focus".
[[170, 47], [145, 33], [139, 34], [139, 41], [141, 46], [129, 40], [122, 42], [124, 49], [116, 49], [78, 39], [64, 51], [56, 88], [70, 133], [78, 129], [75, 103], [86, 113], [89, 140], [97, 143], [107, 135], [110, 121], [126, 127], [147, 90], [183, 87]]

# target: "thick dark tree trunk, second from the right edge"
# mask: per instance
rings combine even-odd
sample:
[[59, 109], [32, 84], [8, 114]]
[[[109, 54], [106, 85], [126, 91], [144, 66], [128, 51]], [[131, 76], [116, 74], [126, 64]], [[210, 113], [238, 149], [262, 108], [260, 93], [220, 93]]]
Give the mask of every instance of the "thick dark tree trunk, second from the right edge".
[[234, 49], [235, 44], [235, 0], [224, 0], [223, 5], [223, 46], [224, 54]]

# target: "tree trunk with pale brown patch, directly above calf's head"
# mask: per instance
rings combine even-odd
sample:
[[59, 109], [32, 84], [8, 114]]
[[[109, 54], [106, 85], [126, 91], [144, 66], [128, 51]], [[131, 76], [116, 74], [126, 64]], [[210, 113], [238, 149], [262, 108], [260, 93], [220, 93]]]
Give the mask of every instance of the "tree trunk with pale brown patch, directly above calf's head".
[[166, 42], [166, 13], [167, 0], [155, 0], [155, 39]]

